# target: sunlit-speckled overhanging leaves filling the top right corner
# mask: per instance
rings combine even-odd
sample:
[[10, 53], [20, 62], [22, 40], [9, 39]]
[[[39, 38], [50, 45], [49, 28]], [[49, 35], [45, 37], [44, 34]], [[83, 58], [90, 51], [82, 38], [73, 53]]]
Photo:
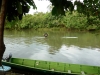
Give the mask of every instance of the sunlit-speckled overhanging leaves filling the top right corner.
[[83, 13], [87, 17], [96, 16], [100, 19], [100, 0], [84, 0], [83, 3], [75, 1], [74, 5], [77, 5], [79, 13]]

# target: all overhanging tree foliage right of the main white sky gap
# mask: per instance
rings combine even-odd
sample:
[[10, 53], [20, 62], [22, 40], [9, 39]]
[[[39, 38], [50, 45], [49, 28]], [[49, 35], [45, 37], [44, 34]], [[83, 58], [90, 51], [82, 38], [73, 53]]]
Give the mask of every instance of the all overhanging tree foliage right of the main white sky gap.
[[96, 16], [100, 19], [100, 0], [75, 0], [74, 5], [72, 0], [50, 0], [52, 3], [53, 15], [65, 15], [65, 11], [73, 11], [74, 6], [77, 6], [77, 11], [87, 17]]

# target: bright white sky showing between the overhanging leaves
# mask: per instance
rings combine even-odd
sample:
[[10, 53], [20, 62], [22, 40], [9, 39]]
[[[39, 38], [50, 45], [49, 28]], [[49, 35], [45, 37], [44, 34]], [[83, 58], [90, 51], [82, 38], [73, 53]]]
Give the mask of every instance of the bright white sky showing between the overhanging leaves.
[[[75, 0], [71, 0], [72, 2], [74, 2]], [[83, 1], [83, 0], [80, 0]], [[47, 8], [48, 5], [50, 5], [50, 1], [49, 0], [34, 0], [36, 6], [37, 6], [37, 10], [33, 10], [32, 8], [30, 9], [28, 14], [34, 14], [34, 12], [38, 11], [38, 12], [48, 12], [49, 9]]]

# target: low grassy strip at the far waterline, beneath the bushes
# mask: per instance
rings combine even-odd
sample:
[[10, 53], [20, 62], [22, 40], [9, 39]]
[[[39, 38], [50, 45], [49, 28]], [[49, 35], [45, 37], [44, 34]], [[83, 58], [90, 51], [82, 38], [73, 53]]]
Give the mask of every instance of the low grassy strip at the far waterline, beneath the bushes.
[[10, 30], [10, 31], [68, 31], [68, 32], [99, 32], [100, 30], [96, 30], [96, 29], [71, 29], [71, 28], [66, 28], [66, 27], [53, 27], [53, 28], [38, 28], [38, 29], [5, 29], [5, 30]]

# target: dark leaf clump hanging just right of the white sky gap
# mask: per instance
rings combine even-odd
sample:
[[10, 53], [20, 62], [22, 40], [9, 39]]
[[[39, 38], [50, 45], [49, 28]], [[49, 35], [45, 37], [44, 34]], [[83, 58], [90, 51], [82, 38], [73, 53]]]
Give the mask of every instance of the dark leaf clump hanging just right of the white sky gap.
[[70, 11], [74, 10], [74, 6], [71, 1], [67, 0], [50, 0], [52, 5], [54, 6], [52, 9], [52, 15], [65, 15], [65, 10], [68, 9]]

